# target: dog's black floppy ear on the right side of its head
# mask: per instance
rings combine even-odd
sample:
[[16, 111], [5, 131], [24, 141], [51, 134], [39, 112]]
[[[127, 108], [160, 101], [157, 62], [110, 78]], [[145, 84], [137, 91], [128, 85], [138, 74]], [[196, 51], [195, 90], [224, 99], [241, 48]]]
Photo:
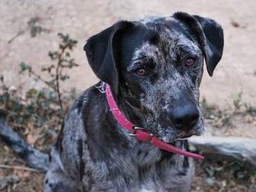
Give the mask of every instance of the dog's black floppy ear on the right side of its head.
[[223, 52], [224, 38], [220, 24], [212, 19], [183, 12], [177, 12], [173, 17], [181, 20], [195, 34], [196, 40], [204, 52], [207, 71], [212, 76]]

